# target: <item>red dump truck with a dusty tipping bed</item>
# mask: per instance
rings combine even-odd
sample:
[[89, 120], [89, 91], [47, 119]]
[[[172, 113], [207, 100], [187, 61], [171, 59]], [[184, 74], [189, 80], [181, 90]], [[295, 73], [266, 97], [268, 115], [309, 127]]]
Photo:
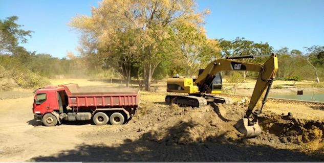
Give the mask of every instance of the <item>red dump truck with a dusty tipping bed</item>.
[[96, 125], [121, 125], [134, 115], [139, 90], [78, 84], [48, 85], [34, 91], [34, 119], [45, 126], [92, 120]]

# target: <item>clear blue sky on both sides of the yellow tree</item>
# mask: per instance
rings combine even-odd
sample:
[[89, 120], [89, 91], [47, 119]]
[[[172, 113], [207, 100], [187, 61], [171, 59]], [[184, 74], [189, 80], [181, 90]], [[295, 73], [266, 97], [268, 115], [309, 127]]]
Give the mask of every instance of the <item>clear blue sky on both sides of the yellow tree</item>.
[[[324, 1], [310, 0], [199, 0], [199, 10], [208, 8], [205, 28], [209, 38], [245, 37], [268, 42], [274, 49], [287, 46], [304, 52], [304, 46], [324, 45]], [[34, 33], [28, 51], [62, 58], [77, 54], [78, 33], [67, 25], [77, 14], [91, 14], [97, 0], [0, 0], [0, 19], [16, 15], [23, 29]]]

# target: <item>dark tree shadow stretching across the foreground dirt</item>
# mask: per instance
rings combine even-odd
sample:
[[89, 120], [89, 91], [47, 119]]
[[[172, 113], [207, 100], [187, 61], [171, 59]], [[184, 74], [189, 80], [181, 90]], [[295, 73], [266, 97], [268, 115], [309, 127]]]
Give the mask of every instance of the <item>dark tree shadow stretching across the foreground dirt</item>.
[[[180, 123], [168, 128], [166, 135], [146, 132], [139, 139], [125, 139], [121, 145], [81, 144], [74, 150], [54, 156], [38, 156], [29, 161], [322, 161], [320, 156], [269, 146], [246, 145], [244, 141], [229, 142], [223, 133], [208, 137], [206, 142], [186, 139], [182, 132], [195, 124]], [[180, 131], [180, 132], [179, 132]], [[203, 133], [201, 133], [203, 134]], [[104, 134], [91, 136], [99, 139]]]

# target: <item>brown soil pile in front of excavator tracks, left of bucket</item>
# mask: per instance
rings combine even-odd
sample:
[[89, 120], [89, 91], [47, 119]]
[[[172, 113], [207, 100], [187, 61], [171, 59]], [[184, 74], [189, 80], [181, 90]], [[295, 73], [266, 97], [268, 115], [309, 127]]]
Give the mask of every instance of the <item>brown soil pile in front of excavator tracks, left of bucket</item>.
[[171, 119], [159, 120], [165, 125], [152, 128], [151, 140], [163, 142], [166, 145], [192, 144], [206, 141], [218, 142], [219, 139], [224, 141], [237, 138], [239, 134], [233, 130], [231, 123], [222, 121], [211, 106], [192, 109], [172, 105], [172, 109], [179, 111], [174, 112]]

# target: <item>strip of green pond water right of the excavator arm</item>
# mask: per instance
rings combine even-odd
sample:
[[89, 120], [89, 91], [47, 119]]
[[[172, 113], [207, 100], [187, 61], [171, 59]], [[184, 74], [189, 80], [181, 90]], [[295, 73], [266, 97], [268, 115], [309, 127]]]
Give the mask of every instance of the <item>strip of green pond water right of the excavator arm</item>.
[[304, 94], [304, 95], [269, 95], [272, 98], [307, 100], [307, 101], [321, 101], [324, 102], [324, 94]]

